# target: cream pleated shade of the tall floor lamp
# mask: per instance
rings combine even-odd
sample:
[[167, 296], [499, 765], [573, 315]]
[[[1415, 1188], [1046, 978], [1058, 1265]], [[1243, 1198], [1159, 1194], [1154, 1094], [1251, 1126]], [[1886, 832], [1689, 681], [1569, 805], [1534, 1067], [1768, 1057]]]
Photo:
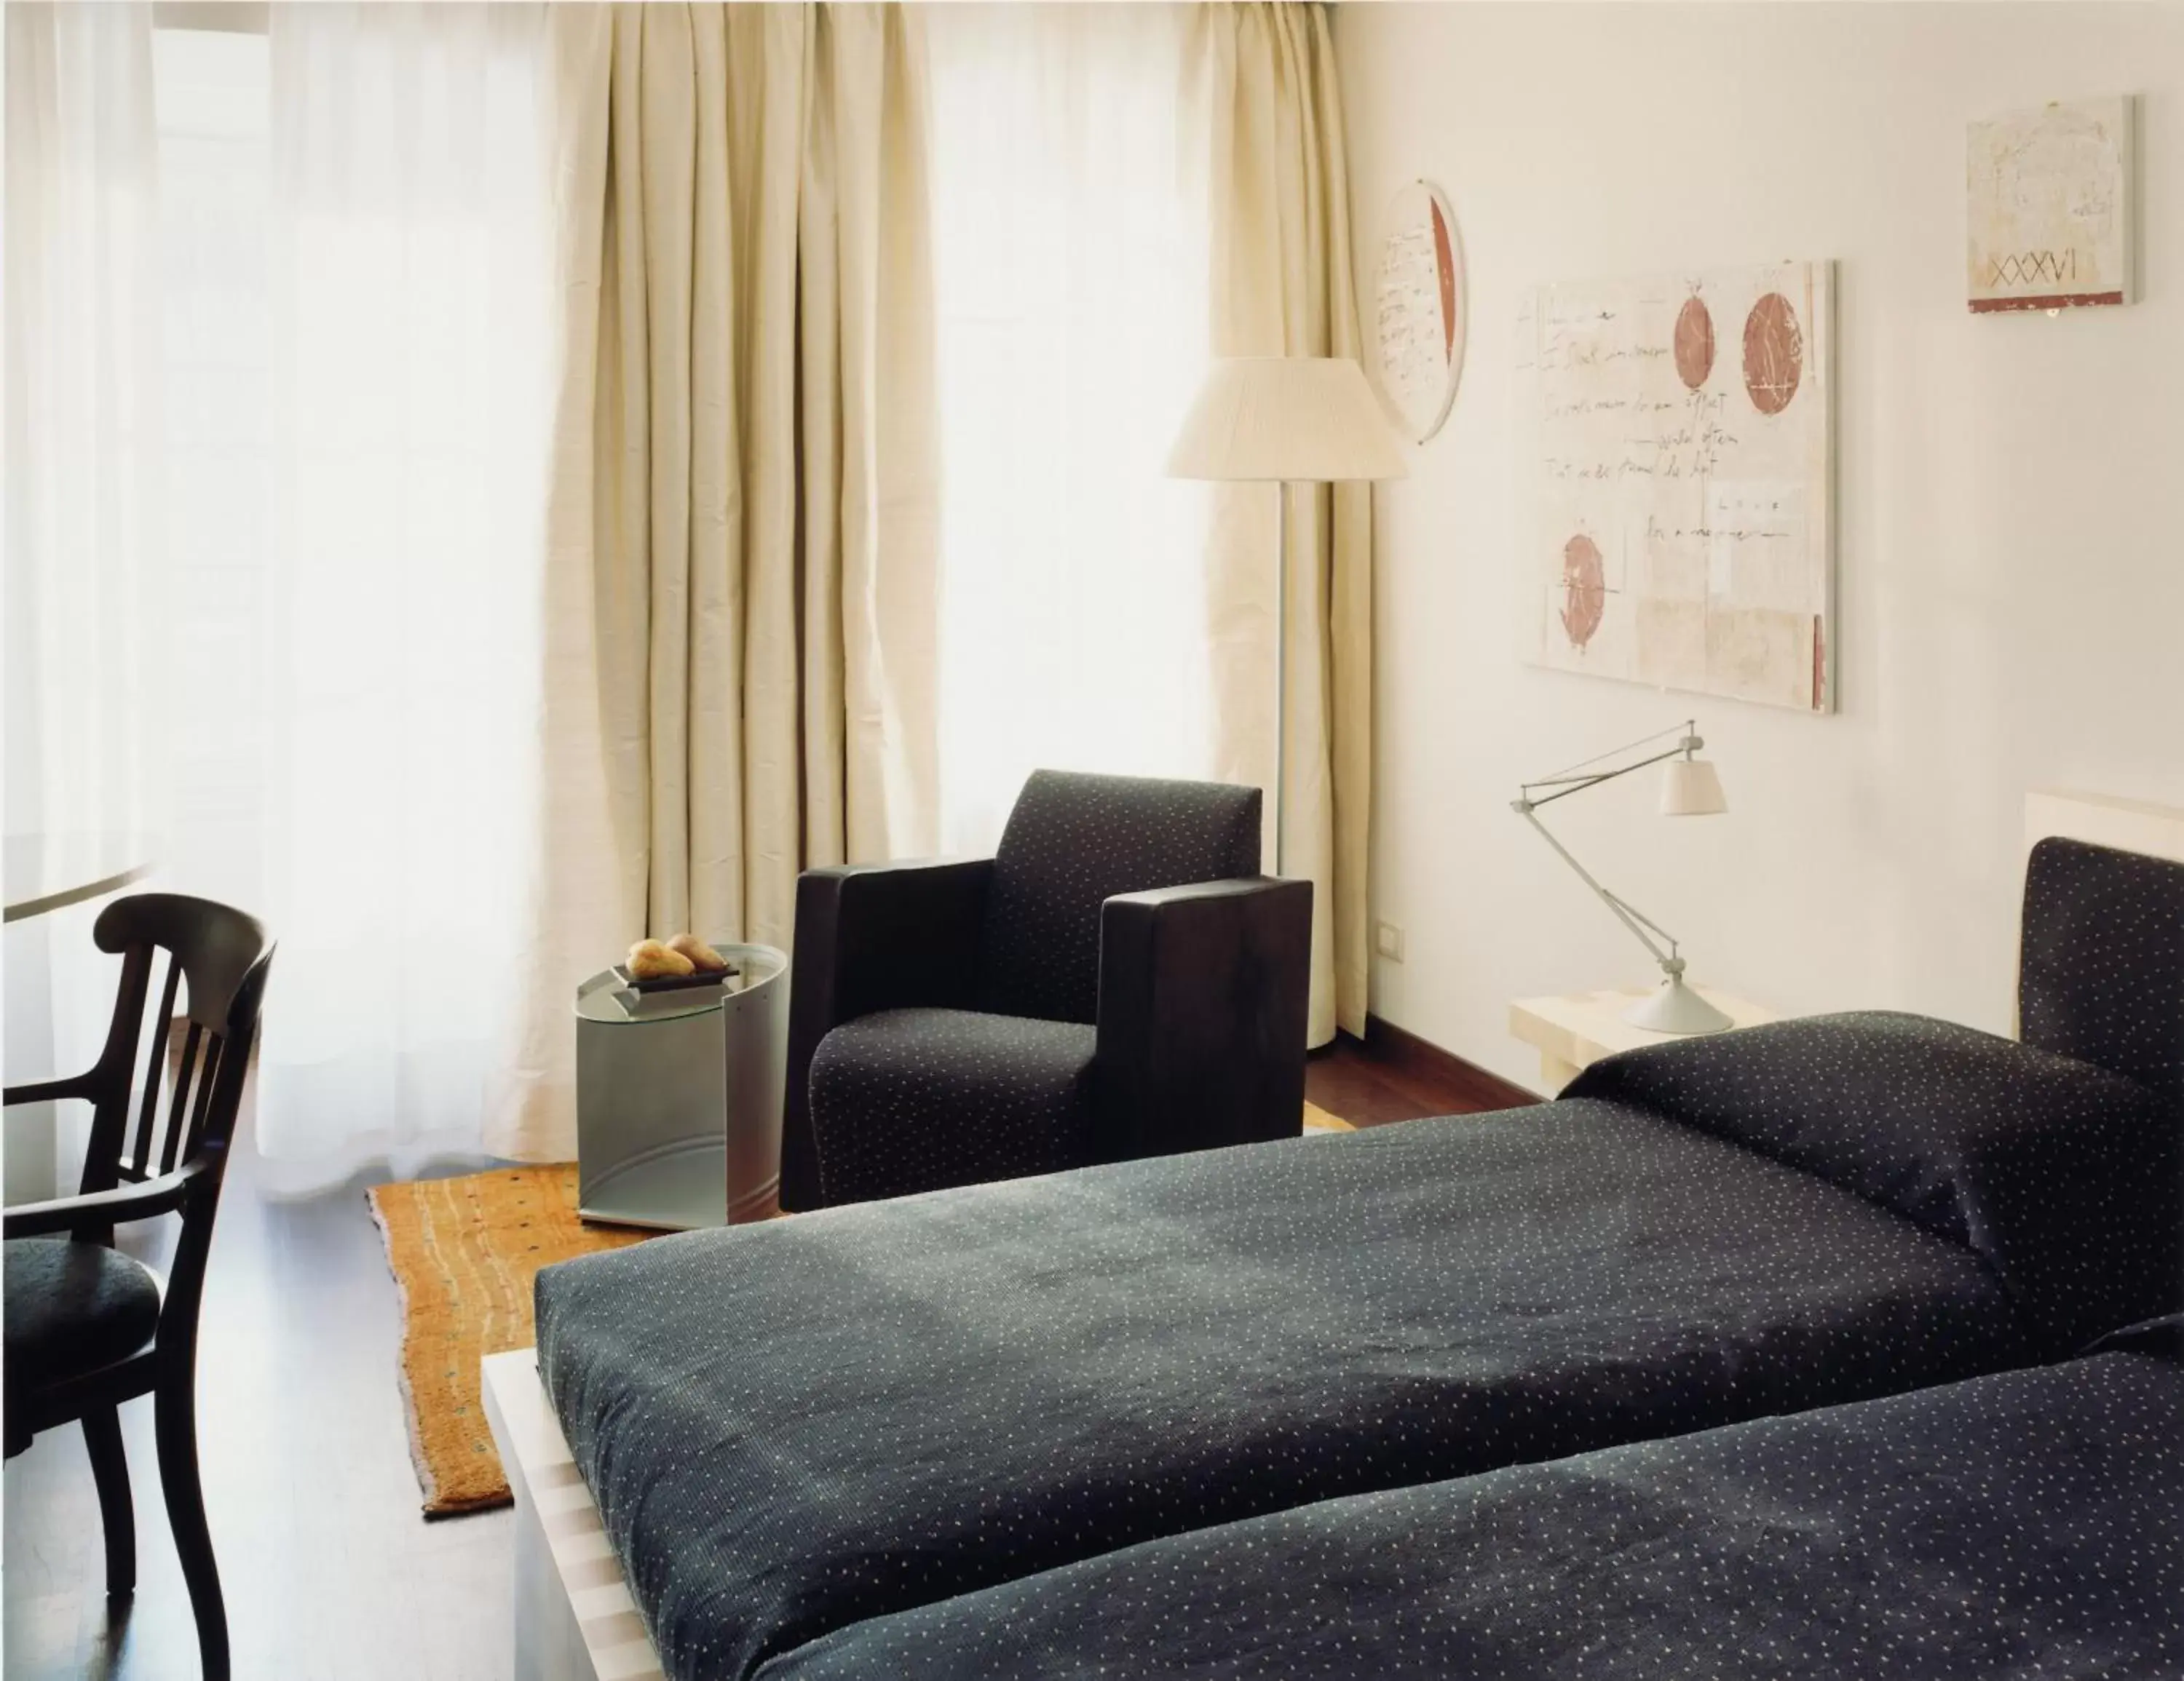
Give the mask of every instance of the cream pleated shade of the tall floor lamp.
[[1326, 482], [1404, 474], [1365, 369], [1348, 356], [1214, 362], [1168, 450], [1168, 478]]

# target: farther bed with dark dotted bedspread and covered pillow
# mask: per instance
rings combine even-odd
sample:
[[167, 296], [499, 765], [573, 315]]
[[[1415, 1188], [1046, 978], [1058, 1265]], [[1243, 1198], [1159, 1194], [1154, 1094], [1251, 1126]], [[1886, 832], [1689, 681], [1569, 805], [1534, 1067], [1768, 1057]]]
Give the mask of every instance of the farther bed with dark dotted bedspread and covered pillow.
[[[1782, 1024], [1538, 1109], [548, 1268], [535, 1436], [583, 1509], [563, 1530], [607, 1559], [563, 1587], [631, 1664], [743, 1677], [1144, 1541], [1948, 1384], [2156, 1312], [2184, 869], [2051, 856], [2068, 904], [2035, 869], [2027, 1037], [2105, 1063], [1915, 1017]], [[2077, 963], [2051, 961], [2055, 917]], [[2116, 1052], [2077, 1006], [2118, 963], [2171, 989], [2167, 1046]], [[520, 1526], [524, 1502], [518, 1480]]]

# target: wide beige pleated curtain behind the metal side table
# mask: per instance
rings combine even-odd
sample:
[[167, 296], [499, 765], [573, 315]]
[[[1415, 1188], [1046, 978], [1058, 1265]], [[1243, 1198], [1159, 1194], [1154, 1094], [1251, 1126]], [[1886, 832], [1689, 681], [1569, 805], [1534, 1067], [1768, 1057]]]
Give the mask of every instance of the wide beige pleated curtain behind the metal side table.
[[935, 847], [924, 63], [882, 4], [555, 7], [544, 869], [491, 1148], [574, 1153], [568, 1000], [646, 932], [786, 945]]

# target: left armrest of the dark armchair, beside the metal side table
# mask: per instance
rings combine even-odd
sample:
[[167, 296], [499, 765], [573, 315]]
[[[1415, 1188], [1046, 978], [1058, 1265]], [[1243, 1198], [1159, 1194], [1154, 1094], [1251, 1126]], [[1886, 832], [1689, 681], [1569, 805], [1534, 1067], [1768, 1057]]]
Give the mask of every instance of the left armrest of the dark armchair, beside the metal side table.
[[841, 1022], [930, 1004], [968, 1009], [992, 858], [808, 869], [797, 878], [788, 965], [788, 1094], [782, 1111], [782, 1207], [821, 1205], [810, 1129], [810, 1068]]

